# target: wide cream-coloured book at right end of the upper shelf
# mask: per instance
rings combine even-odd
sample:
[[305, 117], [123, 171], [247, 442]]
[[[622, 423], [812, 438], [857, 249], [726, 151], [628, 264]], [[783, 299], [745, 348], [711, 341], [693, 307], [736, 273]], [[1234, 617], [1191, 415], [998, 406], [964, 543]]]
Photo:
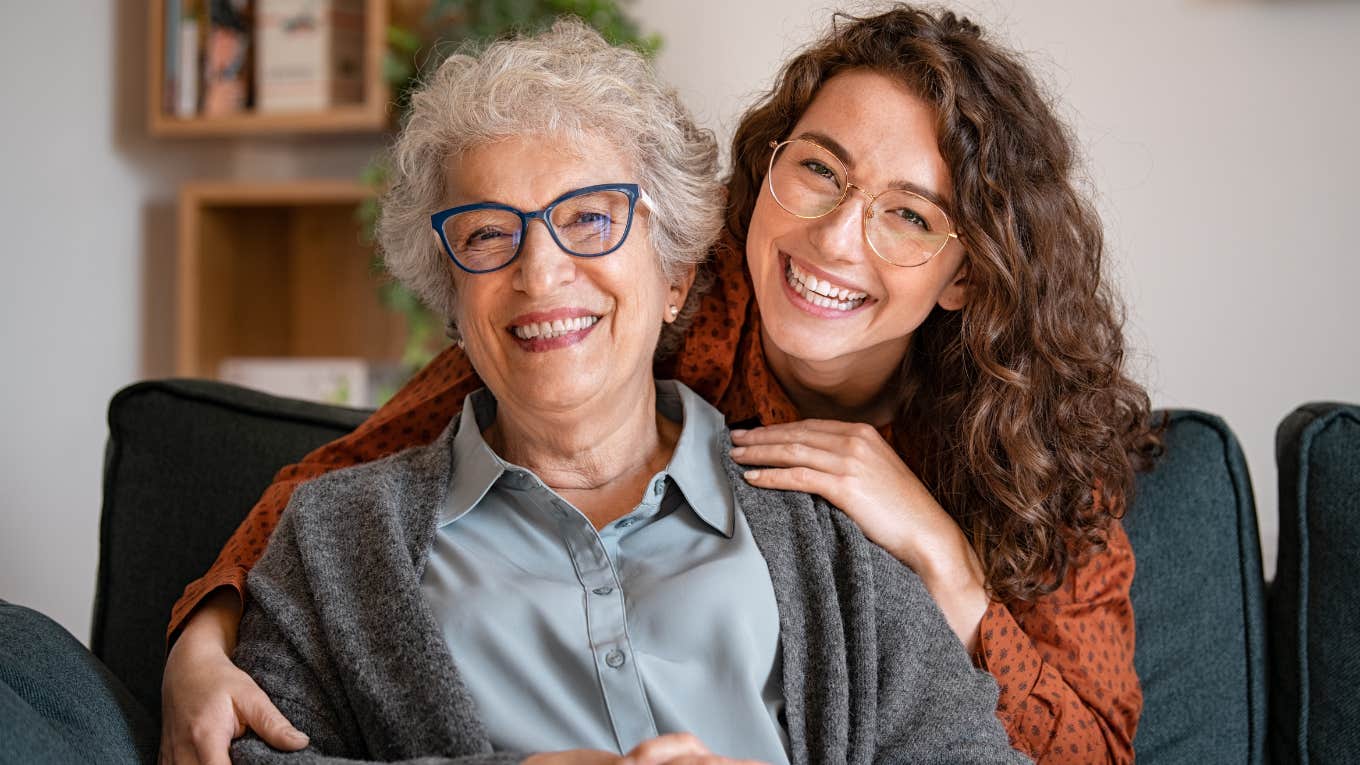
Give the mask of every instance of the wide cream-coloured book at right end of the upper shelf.
[[362, 0], [258, 0], [256, 108], [320, 112], [363, 97]]

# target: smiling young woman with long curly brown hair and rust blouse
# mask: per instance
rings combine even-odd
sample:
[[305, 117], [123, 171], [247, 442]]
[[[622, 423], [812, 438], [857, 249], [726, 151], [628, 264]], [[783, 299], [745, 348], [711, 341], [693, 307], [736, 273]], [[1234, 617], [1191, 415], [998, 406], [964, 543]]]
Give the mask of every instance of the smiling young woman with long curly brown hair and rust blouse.
[[[733, 434], [752, 485], [821, 494], [921, 576], [1016, 747], [1130, 761], [1117, 519], [1157, 440], [1069, 131], [976, 26], [896, 7], [794, 57], [733, 161], [715, 284], [658, 376], [752, 426]], [[432, 441], [477, 387], [449, 350], [279, 474], [177, 604], [163, 750], [214, 755], [245, 727], [303, 743], [227, 659], [245, 573], [301, 482]]]

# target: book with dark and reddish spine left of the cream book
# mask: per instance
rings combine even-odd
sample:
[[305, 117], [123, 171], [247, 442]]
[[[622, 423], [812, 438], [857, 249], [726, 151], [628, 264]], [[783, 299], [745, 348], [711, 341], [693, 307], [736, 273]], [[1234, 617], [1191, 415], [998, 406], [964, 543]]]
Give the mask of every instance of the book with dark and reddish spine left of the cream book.
[[222, 117], [250, 106], [250, 0], [208, 0], [203, 52], [203, 113]]

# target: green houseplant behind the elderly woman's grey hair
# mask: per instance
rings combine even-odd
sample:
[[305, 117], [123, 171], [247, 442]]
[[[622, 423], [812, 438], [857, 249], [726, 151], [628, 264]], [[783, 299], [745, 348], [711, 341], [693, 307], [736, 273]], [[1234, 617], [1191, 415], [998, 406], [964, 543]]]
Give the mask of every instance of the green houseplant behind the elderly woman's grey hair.
[[[654, 56], [661, 48], [661, 38], [643, 34], [624, 12], [626, 3], [628, 0], [430, 0], [423, 12], [413, 14], [411, 19], [398, 18], [388, 27], [384, 76], [392, 88], [397, 118], [405, 117], [412, 88], [443, 60], [443, 53], [469, 41], [486, 42], [507, 34], [539, 31], [563, 15], [579, 16], [611, 44], [628, 45], [649, 57]], [[381, 157], [364, 169], [362, 180], [370, 188], [382, 189], [388, 167]], [[359, 208], [359, 219], [370, 240], [379, 212], [377, 195]], [[374, 260], [374, 268], [384, 271], [381, 257]], [[447, 342], [443, 324], [396, 279], [384, 278], [378, 290], [382, 304], [405, 319], [407, 342], [401, 366], [404, 377], [413, 374]]]

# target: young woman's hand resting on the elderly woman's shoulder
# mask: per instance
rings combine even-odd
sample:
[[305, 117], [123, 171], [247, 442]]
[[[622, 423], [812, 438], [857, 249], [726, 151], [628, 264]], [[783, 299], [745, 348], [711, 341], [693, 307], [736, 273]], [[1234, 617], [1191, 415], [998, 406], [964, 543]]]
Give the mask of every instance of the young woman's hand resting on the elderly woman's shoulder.
[[987, 610], [982, 564], [959, 524], [870, 425], [802, 419], [732, 432], [732, 459], [762, 489], [820, 494], [910, 566], [972, 651]]

